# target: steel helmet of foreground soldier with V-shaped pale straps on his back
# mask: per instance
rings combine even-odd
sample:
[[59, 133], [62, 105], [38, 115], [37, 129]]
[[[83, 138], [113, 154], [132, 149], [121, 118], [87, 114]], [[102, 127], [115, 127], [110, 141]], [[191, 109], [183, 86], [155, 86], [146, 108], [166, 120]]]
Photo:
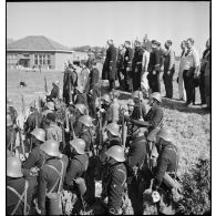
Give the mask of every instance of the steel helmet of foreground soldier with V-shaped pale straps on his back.
[[54, 140], [49, 140], [47, 142], [44, 142], [40, 148], [47, 153], [50, 156], [59, 156], [60, 152], [59, 152], [59, 142], [54, 141]]

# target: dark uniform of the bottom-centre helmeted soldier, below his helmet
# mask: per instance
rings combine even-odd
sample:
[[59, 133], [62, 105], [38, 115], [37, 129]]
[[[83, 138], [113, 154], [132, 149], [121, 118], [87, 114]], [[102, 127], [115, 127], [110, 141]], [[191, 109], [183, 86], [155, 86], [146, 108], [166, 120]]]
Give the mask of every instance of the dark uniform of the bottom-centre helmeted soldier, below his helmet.
[[107, 214], [117, 215], [121, 213], [122, 196], [125, 189], [126, 167], [123, 163], [116, 163], [109, 167], [107, 176]]

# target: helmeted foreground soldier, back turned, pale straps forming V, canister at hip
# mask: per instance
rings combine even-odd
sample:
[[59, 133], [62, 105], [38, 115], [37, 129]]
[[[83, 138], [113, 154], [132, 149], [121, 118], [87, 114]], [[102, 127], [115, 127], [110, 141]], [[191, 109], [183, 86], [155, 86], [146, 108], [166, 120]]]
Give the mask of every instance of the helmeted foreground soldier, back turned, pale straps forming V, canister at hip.
[[59, 152], [59, 143], [53, 140], [47, 141], [40, 148], [48, 157], [39, 172], [38, 207], [41, 215], [48, 215], [52, 213], [47, 210], [47, 198], [51, 193], [61, 192], [69, 160]]

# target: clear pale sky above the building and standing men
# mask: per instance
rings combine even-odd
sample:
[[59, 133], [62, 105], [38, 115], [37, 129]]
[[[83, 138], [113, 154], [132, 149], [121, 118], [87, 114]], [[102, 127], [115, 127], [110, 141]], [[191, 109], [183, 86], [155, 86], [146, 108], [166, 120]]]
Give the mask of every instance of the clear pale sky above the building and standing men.
[[202, 53], [209, 38], [209, 2], [7, 2], [7, 38], [45, 35], [63, 45], [116, 45], [125, 40], [169, 39], [176, 54], [181, 41], [194, 38]]

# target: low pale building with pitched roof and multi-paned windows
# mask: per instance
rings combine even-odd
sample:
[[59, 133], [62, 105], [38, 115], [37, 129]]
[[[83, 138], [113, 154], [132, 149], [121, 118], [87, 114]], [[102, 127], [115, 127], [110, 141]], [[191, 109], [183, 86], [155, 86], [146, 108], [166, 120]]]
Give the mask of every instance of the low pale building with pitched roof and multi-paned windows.
[[7, 66], [63, 70], [73, 51], [44, 35], [29, 35], [7, 44]]

